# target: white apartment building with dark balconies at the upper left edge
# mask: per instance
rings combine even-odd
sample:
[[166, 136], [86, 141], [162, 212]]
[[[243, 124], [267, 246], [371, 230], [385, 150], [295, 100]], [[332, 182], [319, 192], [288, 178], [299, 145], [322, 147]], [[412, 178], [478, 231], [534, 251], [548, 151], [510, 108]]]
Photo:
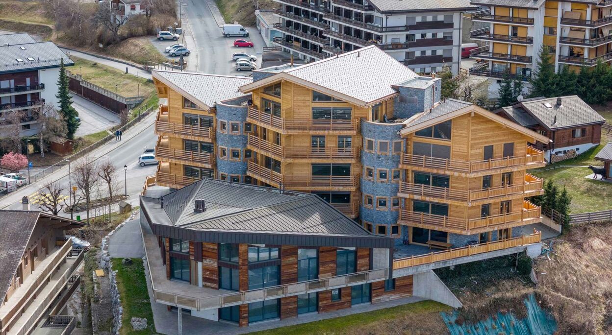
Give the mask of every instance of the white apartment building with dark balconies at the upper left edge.
[[[0, 136], [39, 133], [37, 108], [58, 105], [58, 76], [61, 60], [74, 65], [53, 42], [36, 42], [28, 34], [0, 35]], [[18, 120], [10, 114], [17, 113]]]

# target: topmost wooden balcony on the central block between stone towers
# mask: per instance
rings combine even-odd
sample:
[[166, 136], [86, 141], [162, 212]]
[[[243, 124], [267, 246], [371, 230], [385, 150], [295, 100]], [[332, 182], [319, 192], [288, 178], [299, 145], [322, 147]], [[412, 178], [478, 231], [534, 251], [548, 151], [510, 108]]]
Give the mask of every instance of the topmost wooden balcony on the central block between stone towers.
[[357, 134], [360, 120], [288, 120], [273, 116], [267, 112], [259, 111], [256, 107], [249, 107], [247, 111], [248, 122], [261, 127], [275, 128], [283, 134]]

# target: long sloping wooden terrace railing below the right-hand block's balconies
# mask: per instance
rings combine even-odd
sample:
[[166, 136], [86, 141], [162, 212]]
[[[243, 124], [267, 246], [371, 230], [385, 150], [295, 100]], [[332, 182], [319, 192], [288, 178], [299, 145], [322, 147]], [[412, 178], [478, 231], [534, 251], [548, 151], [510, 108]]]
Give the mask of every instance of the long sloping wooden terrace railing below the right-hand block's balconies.
[[393, 261], [393, 270], [442, 262], [444, 260], [457, 259], [460, 257], [469, 257], [477, 254], [485, 254], [487, 252], [509, 249], [517, 246], [531, 245], [533, 243], [539, 243], [541, 239], [542, 232], [534, 229], [533, 234], [530, 235], [522, 235], [519, 237], [508, 238], [506, 240], [480, 243], [479, 245], [464, 246], [462, 248], [453, 248], [444, 251], [431, 252], [430, 254], [425, 255], [396, 259]]

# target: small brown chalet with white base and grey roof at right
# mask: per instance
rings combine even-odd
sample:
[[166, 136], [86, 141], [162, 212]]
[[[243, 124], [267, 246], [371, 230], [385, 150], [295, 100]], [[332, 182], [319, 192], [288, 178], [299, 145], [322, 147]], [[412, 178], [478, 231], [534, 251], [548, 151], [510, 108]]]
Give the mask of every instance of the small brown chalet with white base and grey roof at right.
[[599, 144], [605, 119], [577, 95], [532, 98], [494, 113], [550, 138], [534, 146], [549, 163], [572, 158]]

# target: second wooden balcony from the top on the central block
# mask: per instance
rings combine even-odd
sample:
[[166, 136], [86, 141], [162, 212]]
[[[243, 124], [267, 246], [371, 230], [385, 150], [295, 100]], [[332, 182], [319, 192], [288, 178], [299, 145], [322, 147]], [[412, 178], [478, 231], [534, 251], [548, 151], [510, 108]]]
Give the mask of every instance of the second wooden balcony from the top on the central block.
[[250, 149], [264, 153], [273, 158], [290, 161], [335, 161], [348, 162], [359, 160], [359, 148], [312, 148], [312, 147], [283, 147], [265, 141], [253, 134], [248, 135], [247, 145]]

